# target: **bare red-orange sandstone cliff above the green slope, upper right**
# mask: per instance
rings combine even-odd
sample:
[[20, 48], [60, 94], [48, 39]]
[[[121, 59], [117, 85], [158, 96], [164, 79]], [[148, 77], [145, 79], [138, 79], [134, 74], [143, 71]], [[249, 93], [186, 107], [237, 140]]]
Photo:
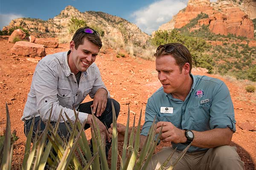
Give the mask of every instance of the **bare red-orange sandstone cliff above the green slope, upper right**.
[[215, 34], [235, 34], [253, 39], [256, 30], [252, 21], [256, 18], [255, 11], [256, 2], [253, 0], [218, 0], [212, 3], [209, 0], [189, 0], [186, 8], [158, 30], [182, 28], [198, 14], [204, 13], [208, 17], [198, 21], [199, 26], [209, 26], [209, 30]]

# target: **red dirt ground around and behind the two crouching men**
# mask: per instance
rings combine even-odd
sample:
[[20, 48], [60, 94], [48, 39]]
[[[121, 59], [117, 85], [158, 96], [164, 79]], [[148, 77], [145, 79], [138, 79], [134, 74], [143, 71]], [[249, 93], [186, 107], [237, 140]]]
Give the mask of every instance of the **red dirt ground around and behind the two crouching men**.
[[[29, 57], [10, 54], [9, 50], [13, 45], [13, 43], [9, 43], [3, 38], [0, 39], [0, 132], [3, 132], [6, 125], [5, 103], [7, 102], [11, 128], [17, 130], [17, 136], [19, 137], [15, 142], [12, 160], [12, 169], [15, 170], [20, 169], [19, 167], [23, 161], [26, 137], [23, 133], [23, 122], [20, 118], [23, 114], [36, 63], [28, 61]], [[46, 48], [46, 53], [52, 54], [68, 49], [68, 44], [60, 44], [58, 48]], [[105, 54], [99, 54], [96, 64], [101, 71], [105, 85], [111, 92], [111, 97], [121, 104], [117, 122], [126, 123], [128, 111], [128, 105], [126, 104], [128, 103], [130, 104], [132, 117], [133, 113], [138, 115], [141, 109], [144, 113], [148, 97], [160, 87], [154, 62], [129, 57], [128, 55], [116, 58], [116, 51], [108, 49]], [[198, 71], [192, 71], [192, 73], [204, 74]], [[217, 77], [215, 75], [208, 76]], [[245, 92], [246, 81], [231, 82], [221, 77], [217, 78], [227, 84], [235, 108], [237, 131], [233, 135], [232, 145], [237, 146], [238, 153], [245, 163], [245, 169], [254, 170], [256, 167], [256, 132], [242, 130], [239, 125], [247, 122], [255, 129], [256, 95], [255, 93]], [[136, 123], [138, 119], [139, 116], [136, 116]], [[157, 150], [160, 150], [163, 146], [167, 146], [167, 144], [161, 142]]]

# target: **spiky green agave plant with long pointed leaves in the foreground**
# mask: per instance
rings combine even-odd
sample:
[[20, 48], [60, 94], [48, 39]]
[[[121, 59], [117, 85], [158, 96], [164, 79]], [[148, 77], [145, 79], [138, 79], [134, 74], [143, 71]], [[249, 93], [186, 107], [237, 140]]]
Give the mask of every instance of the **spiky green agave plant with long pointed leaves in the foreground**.
[[[67, 129], [70, 132], [68, 138], [63, 138], [58, 135], [58, 124], [61, 120], [61, 115], [56, 122], [55, 127], [52, 127], [50, 122], [46, 123], [44, 131], [39, 134], [36, 133], [32, 144], [32, 127], [29, 130], [26, 141], [25, 154], [22, 170], [111, 170], [117, 169], [117, 160], [120, 159], [120, 170], [145, 170], [149, 161], [154, 153], [157, 141], [160, 138], [160, 133], [156, 134], [156, 125], [153, 122], [145, 144], [140, 151], [140, 128], [135, 128], [135, 119], [131, 129], [131, 134], [128, 135], [129, 121], [130, 121], [130, 109], [128, 107], [128, 119], [125, 129], [125, 138], [122, 147], [122, 156], [118, 155], [118, 133], [116, 128], [116, 113], [113, 108], [113, 134], [112, 134], [112, 154], [111, 164], [108, 164], [108, 160], [105, 154], [105, 136], [100, 133], [99, 127], [96, 123], [96, 118], [93, 115], [93, 125], [91, 127], [92, 133], [92, 145], [93, 153], [91, 153], [89, 142], [84, 132], [84, 125], [79, 122], [76, 111], [76, 121], [72, 122], [68, 116], [68, 123], [66, 123]], [[79, 114], [79, 113], [78, 113]], [[12, 163], [12, 151], [13, 145], [10, 142], [11, 127], [9, 111], [6, 105], [6, 136], [3, 143], [3, 158], [0, 160], [0, 169], [10, 170]], [[63, 117], [62, 117], [63, 118]], [[135, 118], [135, 117], [134, 117]], [[33, 120], [34, 121], [34, 120]], [[138, 127], [141, 123], [141, 112]], [[33, 123], [32, 123], [33, 125]], [[32, 145], [32, 148], [31, 148]], [[190, 145], [189, 145], [190, 146]], [[175, 166], [175, 164], [183, 157], [188, 150], [188, 147], [180, 153], [179, 158], [168, 167], [169, 170]], [[166, 159], [159, 169], [166, 169], [166, 164], [171, 159], [173, 153]], [[118, 158], [119, 156], [119, 158]]]

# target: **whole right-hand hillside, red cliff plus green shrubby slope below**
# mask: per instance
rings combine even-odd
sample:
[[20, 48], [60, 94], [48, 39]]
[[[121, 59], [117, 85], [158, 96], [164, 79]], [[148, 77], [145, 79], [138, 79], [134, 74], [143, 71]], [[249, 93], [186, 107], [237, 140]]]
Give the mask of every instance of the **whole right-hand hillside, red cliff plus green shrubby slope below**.
[[189, 0], [186, 8], [159, 27], [153, 42], [183, 43], [194, 66], [256, 81], [255, 28], [255, 0]]

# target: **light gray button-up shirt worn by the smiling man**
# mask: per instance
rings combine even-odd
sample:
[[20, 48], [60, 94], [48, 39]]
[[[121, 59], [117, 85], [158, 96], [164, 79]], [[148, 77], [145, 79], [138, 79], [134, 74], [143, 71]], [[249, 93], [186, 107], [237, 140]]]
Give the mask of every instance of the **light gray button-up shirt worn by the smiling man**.
[[[57, 122], [60, 113], [64, 117], [61, 122], [67, 121], [65, 113], [75, 121], [73, 107], [78, 109], [84, 98], [88, 94], [93, 98], [99, 88], [106, 89], [95, 63], [82, 72], [77, 85], [76, 76], [67, 62], [67, 52], [48, 55], [35, 68], [21, 120], [41, 116], [46, 121], [52, 110], [51, 121]], [[84, 122], [87, 116], [87, 113], [79, 113], [79, 120]]]

